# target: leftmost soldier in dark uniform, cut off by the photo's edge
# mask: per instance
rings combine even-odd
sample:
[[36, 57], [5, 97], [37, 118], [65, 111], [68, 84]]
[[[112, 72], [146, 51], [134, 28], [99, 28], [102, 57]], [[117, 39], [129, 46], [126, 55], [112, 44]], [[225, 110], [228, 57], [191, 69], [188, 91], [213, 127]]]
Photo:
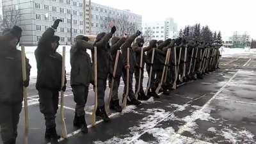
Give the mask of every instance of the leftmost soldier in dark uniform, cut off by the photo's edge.
[[15, 144], [22, 109], [23, 86], [29, 85], [30, 65], [26, 59], [27, 80], [22, 80], [21, 52], [16, 49], [22, 29], [13, 26], [0, 36], [0, 127], [4, 144]]

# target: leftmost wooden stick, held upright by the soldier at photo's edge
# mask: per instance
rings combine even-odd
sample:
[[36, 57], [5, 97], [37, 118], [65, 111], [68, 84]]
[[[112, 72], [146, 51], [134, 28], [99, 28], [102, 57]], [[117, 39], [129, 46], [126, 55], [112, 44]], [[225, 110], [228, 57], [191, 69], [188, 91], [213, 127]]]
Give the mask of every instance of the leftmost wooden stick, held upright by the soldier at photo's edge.
[[[26, 55], [25, 48], [21, 46], [21, 63], [22, 63], [22, 80], [27, 80], [26, 73]], [[24, 129], [24, 144], [28, 144], [28, 132], [29, 132], [29, 119], [28, 119], [28, 95], [27, 88], [23, 86], [23, 98], [24, 98], [24, 118], [25, 118], [25, 129]]]

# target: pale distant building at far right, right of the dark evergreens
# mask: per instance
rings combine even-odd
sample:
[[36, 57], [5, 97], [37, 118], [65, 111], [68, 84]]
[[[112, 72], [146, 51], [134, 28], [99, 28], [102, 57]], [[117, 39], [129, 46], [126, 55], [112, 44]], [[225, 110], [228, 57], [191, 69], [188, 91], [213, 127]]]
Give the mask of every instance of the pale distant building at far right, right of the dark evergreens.
[[223, 39], [223, 45], [230, 48], [244, 48], [250, 47], [251, 41], [250, 35], [247, 33], [239, 35], [236, 31], [233, 36]]

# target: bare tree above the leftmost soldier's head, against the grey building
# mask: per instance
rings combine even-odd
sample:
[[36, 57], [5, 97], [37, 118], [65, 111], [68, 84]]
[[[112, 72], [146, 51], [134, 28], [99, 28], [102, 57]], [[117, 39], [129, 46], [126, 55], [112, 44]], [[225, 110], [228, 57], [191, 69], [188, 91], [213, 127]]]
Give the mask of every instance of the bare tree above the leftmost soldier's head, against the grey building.
[[3, 10], [3, 27], [10, 29], [17, 26], [20, 20], [20, 10], [15, 7], [6, 8]]

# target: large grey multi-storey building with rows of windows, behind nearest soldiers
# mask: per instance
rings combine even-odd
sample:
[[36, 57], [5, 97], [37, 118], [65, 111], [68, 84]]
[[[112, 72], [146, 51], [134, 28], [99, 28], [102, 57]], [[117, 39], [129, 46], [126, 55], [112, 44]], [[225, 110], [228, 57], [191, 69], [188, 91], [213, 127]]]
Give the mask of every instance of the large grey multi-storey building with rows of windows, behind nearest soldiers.
[[[3, 0], [3, 15], [11, 10], [20, 13], [17, 25], [23, 29], [20, 40], [23, 45], [37, 45], [42, 33], [56, 19], [63, 20], [56, 31], [60, 44], [70, 44], [80, 34], [97, 35], [110, 31], [110, 26], [118, 22], [126, 21], [129, 22], [127, 26], [141, 29], [141, 15], [97, 3], [91, 4], [90, 23], [90, 6], [85, 0]], [[121, 30], [117, 29], [116, 33]]]

